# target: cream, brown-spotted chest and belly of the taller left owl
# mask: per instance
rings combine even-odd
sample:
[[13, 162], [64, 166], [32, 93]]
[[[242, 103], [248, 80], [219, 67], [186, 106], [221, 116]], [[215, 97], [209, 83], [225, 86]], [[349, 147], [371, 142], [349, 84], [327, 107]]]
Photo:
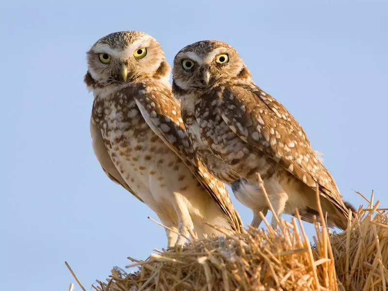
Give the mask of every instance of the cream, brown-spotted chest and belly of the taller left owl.
[[163, 223], [178, 225], [177, 194], [183, 197], [180, 201], [189, 209], [194, 226], [202, 227], [206, 217], [222, 215], [189, 168], [149, 128], [136, 106], [123, 114], [117, 106], [109, 105], [109, 115], [99, 127], [117, 170]]

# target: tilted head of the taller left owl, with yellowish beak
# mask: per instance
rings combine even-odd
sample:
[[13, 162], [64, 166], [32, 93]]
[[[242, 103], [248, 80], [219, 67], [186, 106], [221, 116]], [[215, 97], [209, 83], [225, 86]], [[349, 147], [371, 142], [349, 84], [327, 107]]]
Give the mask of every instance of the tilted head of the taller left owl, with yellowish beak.
[[144, 79], [167, 81], [170, 66], [159, 43], [144, 32], [114, 32], [97, 40], [87, 52], [89, 88]]

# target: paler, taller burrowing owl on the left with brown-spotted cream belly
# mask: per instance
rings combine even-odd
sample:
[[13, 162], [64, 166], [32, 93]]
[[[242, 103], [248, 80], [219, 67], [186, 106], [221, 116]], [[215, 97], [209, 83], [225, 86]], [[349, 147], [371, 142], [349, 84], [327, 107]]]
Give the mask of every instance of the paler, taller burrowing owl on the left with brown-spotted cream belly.
[[105, 173], [146, 203], [167, 230], [168, 246], [208, 222], [239, 230], [225, 185], [201, 162], [184, 129], [159, 43], [143, 32], [115, 32], [87, 52], [84, 81], [93, 91], [93, 148]]

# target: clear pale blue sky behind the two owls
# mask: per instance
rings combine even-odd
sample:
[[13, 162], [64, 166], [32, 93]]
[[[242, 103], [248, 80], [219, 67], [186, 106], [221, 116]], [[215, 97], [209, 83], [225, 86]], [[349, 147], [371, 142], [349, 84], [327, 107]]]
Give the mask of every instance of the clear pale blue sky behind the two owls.
[[170, 63], [195, 41], [230, 43], [324, 153], [345, 199], [358, 206], [352, 189], [374, 189], [387, 206], [388, 3], [313, 2], [1, 1], [1, 289], [67, 290], [68, 260], [89, 290], [166, 243], [92, 151], [85, 52], [110, 32], [153, 35]]

